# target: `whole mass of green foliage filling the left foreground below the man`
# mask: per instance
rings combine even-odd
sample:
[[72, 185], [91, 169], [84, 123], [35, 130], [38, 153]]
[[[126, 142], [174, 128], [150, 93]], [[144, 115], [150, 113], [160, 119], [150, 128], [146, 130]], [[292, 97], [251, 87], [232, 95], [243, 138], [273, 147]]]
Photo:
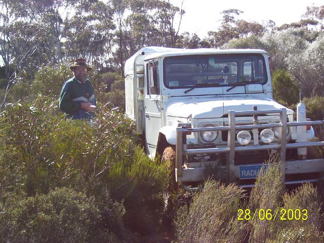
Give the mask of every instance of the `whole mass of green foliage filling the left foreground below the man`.
[[135, 146], [124, 114], [99, 107], [89, 125], [53, 104], [39, 97], [0, 114], [0, 241], [129, 241], [124, 224], [145, 228], [137, 206], [161, 210], [165, 166]]

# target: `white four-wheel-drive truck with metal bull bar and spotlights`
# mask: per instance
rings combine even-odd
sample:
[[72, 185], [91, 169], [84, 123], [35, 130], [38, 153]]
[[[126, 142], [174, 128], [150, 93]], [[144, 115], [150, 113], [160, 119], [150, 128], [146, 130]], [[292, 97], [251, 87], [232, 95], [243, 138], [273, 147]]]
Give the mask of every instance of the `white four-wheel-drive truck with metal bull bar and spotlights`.
[[[269, 57], [253, 49], [145, 47], [126, 61], [126, 114], [151, 157], [167, 157], [176, 181], [217, 176], [253, 186], [265, 159], [278, 151], [286, 184], [313, 182], [324, 159], [307, 159], [314, 138], [306, 107], [272, 99]], [[217, 164], [217, 166], [215, 166]], [[184, 183], [185, 182], [185, 183]]]

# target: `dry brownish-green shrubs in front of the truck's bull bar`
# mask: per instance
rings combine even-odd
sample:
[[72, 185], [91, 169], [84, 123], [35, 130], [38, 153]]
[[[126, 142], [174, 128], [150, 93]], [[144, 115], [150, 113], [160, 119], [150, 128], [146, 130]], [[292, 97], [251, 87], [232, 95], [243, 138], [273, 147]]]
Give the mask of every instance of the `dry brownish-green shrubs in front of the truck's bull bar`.
[[[321, 200], [317, 188], [303, 184], [288, 192], [281, 182], [280, 165], [272, 156], [249, 196], [236, 185], [207, 181], [189, 208], [180, 207], [175, 220], [178, 242], [323, 242]], [[307, 220], [237, 220], [238, 209], [307, 209]], [[279, 213], [280, 214], [280, 213]], [[282, 214], [281, 214], [282, 215]], [[244, 217], [244, 215], [243, 215]], [[286, 215], [287, 218], [287, 215]]]

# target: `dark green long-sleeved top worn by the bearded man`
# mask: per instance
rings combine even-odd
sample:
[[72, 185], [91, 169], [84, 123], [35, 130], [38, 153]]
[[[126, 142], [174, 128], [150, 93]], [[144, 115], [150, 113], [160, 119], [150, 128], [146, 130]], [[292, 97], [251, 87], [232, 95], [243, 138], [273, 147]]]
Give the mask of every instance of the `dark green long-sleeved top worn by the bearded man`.
[[91, 102], [96, 105], [95, 92], [89, 79], [85, 83], [80, 83], [75, 77], [67, 80], [61, 90], [59, 107], [62, 111], [70, 114], [75, 119], [87, 118], [78, 117], [78, 113], [86, 112], [81, 108], [82, 102]]

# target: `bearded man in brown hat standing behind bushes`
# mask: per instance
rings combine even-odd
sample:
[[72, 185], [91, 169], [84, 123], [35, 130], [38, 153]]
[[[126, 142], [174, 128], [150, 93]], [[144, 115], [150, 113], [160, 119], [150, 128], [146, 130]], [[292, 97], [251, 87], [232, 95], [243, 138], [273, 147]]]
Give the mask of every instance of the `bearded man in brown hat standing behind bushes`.
[[88, 77], [88, 66], [86, 59], [75, 59], [71, 71], [74, 77], [67, 80], [60, 94], [59, 107], [67, 113], [68, 118], [90, 119], [94, 117], [92, 111], [96, 108], [95, 92]]

